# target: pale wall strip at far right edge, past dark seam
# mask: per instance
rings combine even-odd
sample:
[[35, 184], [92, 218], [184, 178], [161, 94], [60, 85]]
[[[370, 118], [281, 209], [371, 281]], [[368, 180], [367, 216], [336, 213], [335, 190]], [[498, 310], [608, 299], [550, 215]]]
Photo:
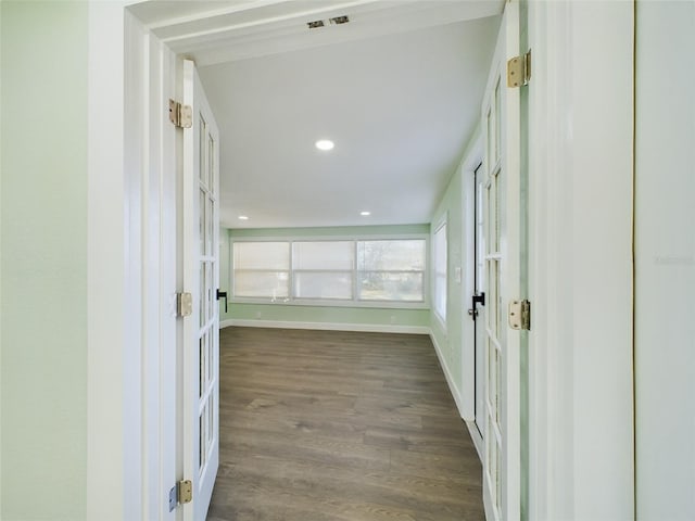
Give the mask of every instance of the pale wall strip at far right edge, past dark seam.
[[636, 493], [695, 519], [695, 3], [637, 1]]

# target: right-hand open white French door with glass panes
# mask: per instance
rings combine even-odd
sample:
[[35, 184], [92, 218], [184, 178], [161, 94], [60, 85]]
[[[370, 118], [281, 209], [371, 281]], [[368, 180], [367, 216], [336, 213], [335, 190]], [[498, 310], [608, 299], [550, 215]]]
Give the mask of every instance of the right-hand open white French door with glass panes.
[[507, 87], [518, 54], [519, 9], [507, 2], [482, 103], [485, 246], [483, 500], [488, 520], [519, 519], [519, 332], [508, 326], [519, 294], [519, 89]]

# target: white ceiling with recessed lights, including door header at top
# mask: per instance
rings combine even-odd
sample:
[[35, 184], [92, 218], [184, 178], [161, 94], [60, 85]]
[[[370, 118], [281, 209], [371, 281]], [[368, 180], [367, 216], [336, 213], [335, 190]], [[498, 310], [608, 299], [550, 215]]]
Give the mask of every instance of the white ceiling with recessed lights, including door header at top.
[[[223, 226], [265, 228], [429, 223], [478, 122], [503, 3], [131, 9], [198, 64], [220, 130]], [[350, 23], [328, 23], [339, 15]]]

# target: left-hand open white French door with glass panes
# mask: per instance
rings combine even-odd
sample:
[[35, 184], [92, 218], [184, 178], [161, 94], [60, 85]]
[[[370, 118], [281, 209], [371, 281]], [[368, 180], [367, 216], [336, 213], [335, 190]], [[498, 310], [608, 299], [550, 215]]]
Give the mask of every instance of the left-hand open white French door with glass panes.
[[218, 130], [193, 62], [184, 62], [184, 288], [192, 314], [184, 321], [184, 475], [193, 497], [184, 519], [203, 521], [219, 460]]

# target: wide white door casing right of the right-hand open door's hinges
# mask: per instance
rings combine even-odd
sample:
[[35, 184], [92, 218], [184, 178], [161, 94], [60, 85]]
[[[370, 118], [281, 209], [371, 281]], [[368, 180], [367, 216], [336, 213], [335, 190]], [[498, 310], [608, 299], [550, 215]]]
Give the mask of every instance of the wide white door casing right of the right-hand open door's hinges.
[[633, 519], [631, 2], [531, 2], [530, 519]]

